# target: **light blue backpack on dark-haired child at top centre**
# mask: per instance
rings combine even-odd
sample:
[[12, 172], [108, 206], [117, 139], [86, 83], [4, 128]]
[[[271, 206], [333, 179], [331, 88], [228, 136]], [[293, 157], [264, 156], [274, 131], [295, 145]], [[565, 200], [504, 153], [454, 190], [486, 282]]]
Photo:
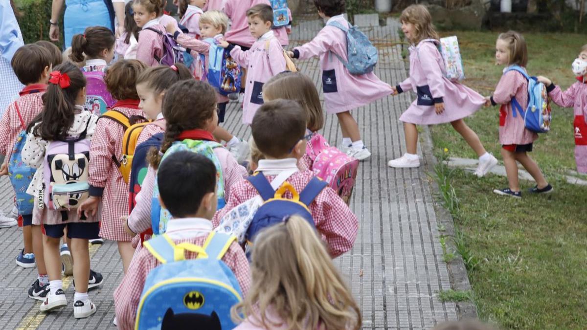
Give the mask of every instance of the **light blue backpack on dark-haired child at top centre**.
[[[330, 26], [339, 28], [346, 33], [346, 54], [349, 61], [345, 62], [338, 54], [336, 57], [342, 62], [351, 75], [365, 75], [373, 71], [377, 64], [377, 48], [369, 41], [365, 33], [359, 31], [359, 28], [349, 23], [349, 28], [345, 28], [337, 21], [328, 23]], [[332, 56], [330, 51], [330, 56]]]

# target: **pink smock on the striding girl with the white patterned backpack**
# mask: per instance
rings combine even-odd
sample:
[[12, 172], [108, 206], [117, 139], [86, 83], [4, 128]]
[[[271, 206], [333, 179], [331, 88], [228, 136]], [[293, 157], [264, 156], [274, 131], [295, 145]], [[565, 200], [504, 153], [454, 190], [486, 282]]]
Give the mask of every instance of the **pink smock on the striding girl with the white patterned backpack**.
[[[417, 98], [400, 116], [402, 122], [450, 123], [472, 115], [485, 103], [485, 97], [473, 89], [444, 77], [444, 62], [437, 44], [435, 39], [425, 39], [410, 47], [410, 76], [396, 88], [398, 93], [411, 89]], [[434, 104], [443, 102], [444, 112], [437, 115]]]

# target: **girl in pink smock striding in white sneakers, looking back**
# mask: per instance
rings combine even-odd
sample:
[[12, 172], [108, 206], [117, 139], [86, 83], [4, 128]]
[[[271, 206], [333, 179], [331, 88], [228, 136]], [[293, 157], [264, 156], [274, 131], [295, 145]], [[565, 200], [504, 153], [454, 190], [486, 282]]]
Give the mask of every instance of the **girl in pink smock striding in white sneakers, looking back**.
[[483, 177], [497, 164], [497, 159], [488, 153], [477, 134], [463, 121], [473, 115], [485, 103], [484, 97], [467, 86], [451, 82], [444, 77], [444, 62], [438, 52], [438, 33], [432, 25], [428, 9], [422, 5], [411, 5], [404, 9], [400, 18], [402, 31], [412, 43], [410, 46], [410, 76], [394, 87], [394, 94], [413, 90], [417, 99], [402, 114], [406, 134], [406, 153], [387, 163], [390, 167], [419, 167], [416, 154], [418, 131], [416, 124], [430, 125], [451, 123], [463, 136], [479, 157], [475, 170]]

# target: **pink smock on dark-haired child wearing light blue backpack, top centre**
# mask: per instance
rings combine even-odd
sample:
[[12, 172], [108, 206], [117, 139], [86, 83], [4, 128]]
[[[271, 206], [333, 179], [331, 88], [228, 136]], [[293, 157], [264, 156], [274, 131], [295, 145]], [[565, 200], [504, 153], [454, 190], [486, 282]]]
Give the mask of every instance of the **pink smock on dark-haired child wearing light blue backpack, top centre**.
[[[349, 26], [349, 22], [342, 15], [332, 16], [327, 24], [332, 21]], [[373, 72], [351, 75], [343, 63], [330, 52], [348, 60], [345, 32], [328, 25], [322, 28], [311, 42], [294, 49], [294, 58], [309, 59], [320, 56], [326, 112], [347, 112], [392, 93], [392, 87], [382, 82]]]

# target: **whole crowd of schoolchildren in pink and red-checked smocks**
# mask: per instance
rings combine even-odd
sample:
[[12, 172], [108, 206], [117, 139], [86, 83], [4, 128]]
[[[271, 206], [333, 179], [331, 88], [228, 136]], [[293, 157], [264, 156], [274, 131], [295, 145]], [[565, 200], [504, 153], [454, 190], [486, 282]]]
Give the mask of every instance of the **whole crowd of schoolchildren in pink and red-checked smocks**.
[[[343, 0], [315, 0], [325, 28], [311, 42], [285, 53], [287, 28], [272, 29], [272, 8], [266, 2], [227, 0], [224, 12], [204, 12], [207, 1], [180, 0], [178, 25], [162, 14], [159, 0], [134, 0], [127, 6], [126, 32], [119, 39], [109, 29], [88, 28], [73, 36], [63, 63], [59, 49], [51, 43], [37, 42], [16, 51], [11, 64], [25, 88], [0, 121], [0, 153], [6, 155], [0, 174], [12, 176], [11, 168], [23, 164], [33, 169], [30, 184], [16, 191], [26, 190], [33, 200], [32, 212], [21, 212], [25, 247], [16, 261], [26, 267], [36, 264], [39, 276], [29, 288], [29, 297], [43, 302], [41, 311], [67, 305], [63, 272], [73, 274], [75, 318], [95, 313], [87, 291], [98, 287], [103, 278], [90, 270], [88, 244], [100, 238], [113, 240], [125, 273], [114, 293], [115, 320], [122, 329], [134, 328], [147, 277], [164, 264], [149, 244], [151, 235], [185, 246], [181, 258], [201, 258], [203, 250], [193, 246], [207, 245], [213, 233], [223, 230], [231, 211], [242, 213], [258, 196], [265, 199], [266, 191], [258, 188], [265, 184], [276, 191], [276, 199], [299, 201], [302, 213], [311, 219], [286, 215], [246, 242], [232, 241], [219, 255], [242, 293], [241, 301], [232, 307], [233, 319], [241, 323], [238, 328], [360, 328], [359, 308], [330, 261], [352, 248], [358, 221], [332, 188], [318, 183], [312, 198], [305, 194], [306, 187], [317, 184], [310, 170], [313, 158], [308, 141], [322, 129], [324, 115], [312, 80], [285, 70], [288, 56], [320, 56], [326, 112], [338, 116], [343, 136], [339, 149], [350, 156], [365, 159], [370, 154], [350, 110], [411, 89], [417, 100], [400, 117], [407, 153], [389, 161], [389, 166], [419, 166], [416, 124], [450, 122], [480, 157], [476, 174], [482, 177], [497, 159], [487, 153], [463, 119], [483, 105], [501, 104], [500, 144], [510, 184], [495, 192], [521, 197], [516, 161], [536, 180], [533, 193], [553, 190], [527, 154], [537, 134], [525, 129], [511, 106], [514, 99], [522, 107], [528, 103], [524, 75], [504, 70], [487, 98], [444, 78], [438, 35], [424, 6], [409, 6], [402, 13], [402, 29], [412, 43], [410, 77], [391, 87], [374, 73], [351, 75], [346, 69], [346, 33], [337, 27], [350, 26], [342, 15]], [[190, 65], [159, 65], [166, 42], [161, 35], [166, 33], [187, 48], [185, 58], [193, 58]], [[248, 143], [218, 126], [228, 98], [206, 82], [212, 47], [208, 39], [247, 70], [241, 92], [242, 121], [252, 132]], [[115, 52], [119, 59], [111, 63]], [[527, 50], [522, 36], [502, 33], [495, 59], [500, 65], [524, 68]], [[539, 77], [554, 102], [575, 107], [580, 171], [587, 169], [587, 140], [581, 135], [587, 128], [585, 63], [587, 48], [583, 47], [573, 63], [579, 82], [566, 92]], [[96, 88], [94, 73], [102, 77], [110, 96], [102, 98], [107, 109], [88, 100], [89, 91]], [[133, 173], [124, 170], [129, 152], [123, 150], [123, 140], [129, 127], [141, 129], [137, 146], [157, 142], [143, 160], [148, 166], [134, 173], [140, 177], [137, 190], [129, 187]], [[219, 144], [220, 140], [227, 145]], [[242, 166], [245, 149], [250, 149], [248, 170]], [[59, 190], [71, 183], [82, 188], [73, 191], [70, 185], [66, 193]], [[250, 254], [245, 254], [244, 245]]]

